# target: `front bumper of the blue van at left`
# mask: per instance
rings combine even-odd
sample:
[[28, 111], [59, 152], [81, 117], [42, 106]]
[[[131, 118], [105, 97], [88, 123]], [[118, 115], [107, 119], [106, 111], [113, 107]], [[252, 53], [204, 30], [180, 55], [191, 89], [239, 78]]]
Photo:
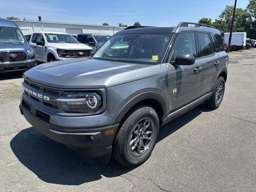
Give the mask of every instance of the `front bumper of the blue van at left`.
[[0, 63], [0, 74], [14, 71], [26, 71], [36, 66], [36, 59], [27, 60], [24, 62]]

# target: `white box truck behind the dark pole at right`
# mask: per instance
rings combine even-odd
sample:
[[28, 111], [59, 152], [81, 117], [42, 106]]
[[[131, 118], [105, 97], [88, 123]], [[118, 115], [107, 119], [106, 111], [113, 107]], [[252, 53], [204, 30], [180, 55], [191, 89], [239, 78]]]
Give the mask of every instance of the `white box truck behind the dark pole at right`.
[[[224, 40], [228, 43], [230, 33], [224, 33]], [[246, 45], [246, 32], [233, 32], [231, 38], [231, 45], [236, 45], [238, 50], [243, 50]]]

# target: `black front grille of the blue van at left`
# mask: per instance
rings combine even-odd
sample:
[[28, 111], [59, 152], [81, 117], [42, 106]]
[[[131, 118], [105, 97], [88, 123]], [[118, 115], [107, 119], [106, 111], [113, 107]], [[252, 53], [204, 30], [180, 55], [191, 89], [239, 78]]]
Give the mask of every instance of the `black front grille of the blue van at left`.
[[[12, 58], [10, 55], [17, 55], [15, 58]], [[18, 52], [0, 52], [0, 62], [22, 62], [26, 61], [28, 55], [24, 51]]]

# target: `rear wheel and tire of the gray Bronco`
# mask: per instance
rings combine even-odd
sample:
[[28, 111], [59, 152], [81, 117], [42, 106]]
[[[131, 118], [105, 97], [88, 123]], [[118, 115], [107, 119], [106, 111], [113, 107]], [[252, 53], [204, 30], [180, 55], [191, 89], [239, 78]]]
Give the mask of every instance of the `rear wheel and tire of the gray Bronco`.
[[222, 76], [220, 76], [214, 84], [214, 87], [212, 89], [212, 96], [208, 100], [206, 100], [204, 104], [211, 109], [217, 109], [222, 102], [224, 92], [225, 92], [225, 80]]

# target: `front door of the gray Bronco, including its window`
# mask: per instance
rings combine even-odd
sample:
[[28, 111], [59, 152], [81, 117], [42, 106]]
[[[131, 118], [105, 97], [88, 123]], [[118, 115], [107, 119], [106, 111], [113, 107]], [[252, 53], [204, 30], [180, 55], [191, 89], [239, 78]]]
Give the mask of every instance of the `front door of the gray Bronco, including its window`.
[[[168, 105], [170, 112], [200, 96], [203, 62], [202, 59], [197, 58], [197, 50], [194, 32], [185, 32], [178, 36], [171, 54], [170, 63], [167, 63]], [[196, 58], [195, 63], [189, 66], [175, 65], [175, 58], [180, 53], [193, 54]]]

